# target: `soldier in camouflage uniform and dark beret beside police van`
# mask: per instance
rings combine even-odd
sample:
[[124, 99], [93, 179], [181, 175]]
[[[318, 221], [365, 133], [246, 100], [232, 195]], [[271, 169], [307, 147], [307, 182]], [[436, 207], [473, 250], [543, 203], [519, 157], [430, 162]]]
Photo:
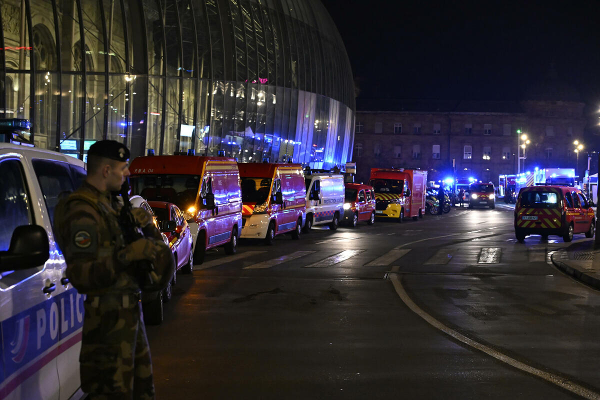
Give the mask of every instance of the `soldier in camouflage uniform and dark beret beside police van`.
[[[152, 360], [143, 324], [138, 260], [173, 260], [152, 216], [132, 213], [146, 236], [125, 243], [115, 191], [129, 175], [128, 149], [101, 140], [88, 151], [88, 176], [55, 210], [56, 241], [67, 261], [67, 278], [84, 302], [81, 387], [91, 399], [154, 399]], [[111, 193], [113, 192], [113, 194]]]

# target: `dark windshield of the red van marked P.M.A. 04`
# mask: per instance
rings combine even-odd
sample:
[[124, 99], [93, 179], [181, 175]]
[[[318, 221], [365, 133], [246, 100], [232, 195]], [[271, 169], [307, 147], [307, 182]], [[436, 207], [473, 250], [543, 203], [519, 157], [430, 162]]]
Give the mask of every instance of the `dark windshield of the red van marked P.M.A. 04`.
[[131, 196], [148, 201], [167, 201], [187, 210], [196, 201], [200, 185], [198, 175], [143, 175], [129, 178]]

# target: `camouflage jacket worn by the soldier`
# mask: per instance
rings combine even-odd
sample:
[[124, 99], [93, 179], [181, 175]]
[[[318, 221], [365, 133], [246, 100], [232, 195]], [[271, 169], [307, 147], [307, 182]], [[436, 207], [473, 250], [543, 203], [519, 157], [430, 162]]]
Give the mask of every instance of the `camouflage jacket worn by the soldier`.
[[[119, 226], [120, 208], [110, 192], [101, 192], [88, 182], [56, 206], [56, 241], [67, 262], [67, 278], [79, 293], [140, 290], [136, 279], [116, 257], [126, 245]], [[158, 231], [152, 236], [162, 242]]]

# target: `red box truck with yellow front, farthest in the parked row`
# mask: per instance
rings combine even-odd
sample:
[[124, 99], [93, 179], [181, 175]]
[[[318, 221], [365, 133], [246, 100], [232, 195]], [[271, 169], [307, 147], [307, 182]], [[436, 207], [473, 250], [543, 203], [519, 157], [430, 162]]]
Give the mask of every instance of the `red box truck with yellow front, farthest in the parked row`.
[[371, 168], [369, 185], [375, 190], [376, 216], [402, 222], [425, 213], [427, 171]]

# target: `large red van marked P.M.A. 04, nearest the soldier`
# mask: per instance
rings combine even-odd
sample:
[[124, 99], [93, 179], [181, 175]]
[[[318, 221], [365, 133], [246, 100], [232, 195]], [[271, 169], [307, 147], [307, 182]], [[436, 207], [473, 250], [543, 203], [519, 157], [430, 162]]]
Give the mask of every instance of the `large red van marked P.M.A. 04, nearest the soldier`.
[[235, 158], [196, 155], [136, 157], [129, 167], [131, 194], [176, 204], [190, 226], [194, 263], [207, 249], [235, 254], [242, 231], [242, 193]]

